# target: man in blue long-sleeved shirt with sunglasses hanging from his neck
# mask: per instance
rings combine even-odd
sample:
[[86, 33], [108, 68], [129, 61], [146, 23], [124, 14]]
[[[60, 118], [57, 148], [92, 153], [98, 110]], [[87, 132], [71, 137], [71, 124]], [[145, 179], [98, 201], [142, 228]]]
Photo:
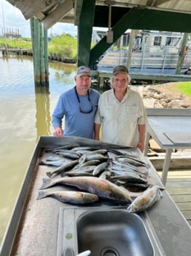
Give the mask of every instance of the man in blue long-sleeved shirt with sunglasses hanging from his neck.
[[[55, 137], [73, 136], [94, 139], [94, 117], [100, 93], [90, 88], [90, 68], [77, 68], [76, 86], [59, 96], [52, 123]], [[64, 117], [64, 130], [62, 119]]]

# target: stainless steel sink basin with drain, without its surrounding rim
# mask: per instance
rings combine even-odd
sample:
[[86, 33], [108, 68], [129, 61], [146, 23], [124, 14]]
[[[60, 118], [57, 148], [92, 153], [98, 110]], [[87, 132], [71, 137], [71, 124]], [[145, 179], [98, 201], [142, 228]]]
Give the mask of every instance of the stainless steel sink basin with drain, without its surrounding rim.
[[153, 245], [137, 214], [125, 209], [88, 211], [76, 222], [78, 251], [91, 256], [153, 256]]

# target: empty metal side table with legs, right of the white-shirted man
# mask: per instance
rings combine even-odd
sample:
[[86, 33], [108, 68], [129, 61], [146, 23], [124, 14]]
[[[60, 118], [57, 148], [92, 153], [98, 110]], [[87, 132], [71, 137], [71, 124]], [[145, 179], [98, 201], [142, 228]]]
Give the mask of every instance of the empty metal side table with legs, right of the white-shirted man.
[[191, 110], [177, 108], [147, 108], [147, 155], [150, 137], [166, 149], [161, 181], [166, 184], [173, 148], [191, 148]]

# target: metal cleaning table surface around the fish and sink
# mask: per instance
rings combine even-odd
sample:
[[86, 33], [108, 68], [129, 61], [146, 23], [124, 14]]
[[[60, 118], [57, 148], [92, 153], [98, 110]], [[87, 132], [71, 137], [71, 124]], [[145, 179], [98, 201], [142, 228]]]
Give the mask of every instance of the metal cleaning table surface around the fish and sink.
[[[74, 247], [76, 255], [78, 246], [74, 241], [77, 238], [75, 235], [72, 238], [63, 237], [60, 213], [65, 211], [65, 209], [66, 211], [71, 209], [71, 207], [76, 209], [76, 211], [86, 211], [90, 207], [92, 210], [94, 210], [94, 207], [97, 209], [111, 209], [113, 207], [107, 201], [93, 206], [71, 206], [51, 198], [36, 200], [42, 179], [46, 177], [46, 171], [49, 168], [46, 165], [38, 165], [44, 159], [44, 154], [48, 154], [44, 153], [44, 149], [75, 144], [76, 142], [80, 143], [80, 145], [98, 146], [99, 148], [111, 145], [78, 137], [40, 137], [24, 177], [16, 206], [13, 210], [9, 226], [7, 226], [7, 232], [4, 234], [4, 239], [1, 243], [1, 256], [61, 256], [64, 253], [62, 249], [65, 248], [63, 247], [65, 243], [76, 244], [76, 247]], [[137, 148], [132, 150], [138, 151]], [[141, 154], [141, 151], [138, 152], [140, 159], [150, 165], [149, 176], [155, 180], [155, 183], [164, 188], [152, 163]], [[56, 186], [56, 188], [58, 190], [68, 189], [63, 186]], [[190, 256], [190, 225], [165, 188], [162, 194], [161, 200], [144, 212], [144, 224], [147, 226], [147, 232], [149, 232], [150, 239], [153, 242], [153, 246], [155, 246], [154, 255]], [[126, 208], [127, 206], [124, 207]], [[67, 223], [63, 224], [65, 226]], [[67, 226], [71, 226], [70, 223]], [[63, 240], [58, 239], [60, 234]], [[59, 249], [61, 249], [61, 253]]]

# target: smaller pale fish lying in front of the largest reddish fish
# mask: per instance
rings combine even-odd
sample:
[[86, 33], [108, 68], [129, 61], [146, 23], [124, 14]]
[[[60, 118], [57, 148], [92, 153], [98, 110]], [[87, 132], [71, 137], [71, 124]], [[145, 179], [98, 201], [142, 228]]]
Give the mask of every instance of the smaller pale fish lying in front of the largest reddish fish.
[[53, 197], [59, 200], [61, 203], [72, 203], [72, 204], [87, 204], [98, 202], [98, 196], [96, 194], [90, 194], [81, 191], [38, 191], [37, 200]]

